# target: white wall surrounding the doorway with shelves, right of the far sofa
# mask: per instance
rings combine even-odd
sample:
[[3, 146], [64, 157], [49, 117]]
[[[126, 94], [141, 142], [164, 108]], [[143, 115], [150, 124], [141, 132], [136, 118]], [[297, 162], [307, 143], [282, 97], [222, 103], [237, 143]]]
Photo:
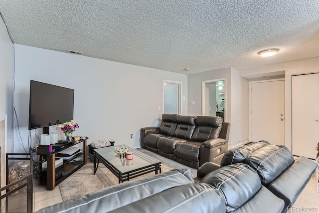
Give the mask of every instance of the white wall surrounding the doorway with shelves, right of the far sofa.
[[[226, 78], [225, 81], [225, 121], [230, 123], [229, 147], [248, 140], [248, 87], [247, 79], [239, 76], [240, 71], [225, 68], [188, 76], [188, 114], [201, 115], [202, 81]], [[190, 105], [195, 101], [195, 105]]]

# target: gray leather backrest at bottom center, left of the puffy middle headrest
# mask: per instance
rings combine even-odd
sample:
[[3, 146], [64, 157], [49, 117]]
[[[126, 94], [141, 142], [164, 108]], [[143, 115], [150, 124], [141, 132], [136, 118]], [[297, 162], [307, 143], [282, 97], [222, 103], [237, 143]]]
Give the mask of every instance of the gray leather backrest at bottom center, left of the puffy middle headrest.
[[225, 213], [225, 211], [224, 200], [211, 186], [189, 184], [168, 189], [121, 207], [112, 213]]

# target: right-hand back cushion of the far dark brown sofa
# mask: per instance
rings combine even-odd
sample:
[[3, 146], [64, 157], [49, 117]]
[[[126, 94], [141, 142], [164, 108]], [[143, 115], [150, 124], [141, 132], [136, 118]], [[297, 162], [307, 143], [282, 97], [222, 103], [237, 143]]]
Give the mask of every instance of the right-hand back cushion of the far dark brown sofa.
[[222, 123], [222, 118], [218, 116], [197, 116], [191, 140], [204, 142], [208, 139], [218, 138]]

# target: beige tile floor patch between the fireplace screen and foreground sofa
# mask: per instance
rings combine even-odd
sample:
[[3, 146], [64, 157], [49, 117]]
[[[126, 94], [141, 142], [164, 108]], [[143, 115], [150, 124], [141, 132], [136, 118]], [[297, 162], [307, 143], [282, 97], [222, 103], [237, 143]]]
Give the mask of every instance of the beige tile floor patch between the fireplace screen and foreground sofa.
[[55, 189], [51, 191], [44, 190], [33, 193], [33, 212], [61, 202], [63, 201], [59, 186], [56, 186]]

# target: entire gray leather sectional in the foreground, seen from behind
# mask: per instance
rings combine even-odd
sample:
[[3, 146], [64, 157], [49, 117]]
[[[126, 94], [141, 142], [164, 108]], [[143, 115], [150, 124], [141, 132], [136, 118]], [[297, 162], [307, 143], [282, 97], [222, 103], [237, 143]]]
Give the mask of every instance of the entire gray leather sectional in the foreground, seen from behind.
[[220, 167], [207, 162], [200, 167], [199, 183], [189, 170], [175, 169], [37, 213], [285, 213], [317, 168], [304, 157], [293, 161], [286, 147], [268, 143], [230, 150], [223, 162], [229, 160], [234, 164]]

